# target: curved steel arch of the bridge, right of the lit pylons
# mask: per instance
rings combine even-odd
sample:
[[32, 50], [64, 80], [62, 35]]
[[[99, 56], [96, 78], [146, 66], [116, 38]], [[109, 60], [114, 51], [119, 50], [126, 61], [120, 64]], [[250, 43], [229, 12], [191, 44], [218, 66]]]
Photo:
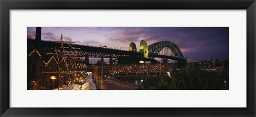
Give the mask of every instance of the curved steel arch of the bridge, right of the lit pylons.
[[158, 54], [164, 47], [168, 47], [174, 53], [174, 57], [185, 59], [180, 48], [172, 41], [161, 41], [148, 46], [149, 54]]

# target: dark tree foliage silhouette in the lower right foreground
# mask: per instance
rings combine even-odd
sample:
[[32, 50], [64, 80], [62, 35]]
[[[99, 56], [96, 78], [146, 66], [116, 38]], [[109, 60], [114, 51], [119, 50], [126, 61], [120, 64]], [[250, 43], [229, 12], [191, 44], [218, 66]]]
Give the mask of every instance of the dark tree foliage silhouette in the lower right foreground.
[[180, 71], [172, 71], [171, 78], [167, 75], [148, 77], [143, 81], [142, 89], [220, 90], [228, 89], [228, 82], [227, 73], [207, 72], [188, 64]]

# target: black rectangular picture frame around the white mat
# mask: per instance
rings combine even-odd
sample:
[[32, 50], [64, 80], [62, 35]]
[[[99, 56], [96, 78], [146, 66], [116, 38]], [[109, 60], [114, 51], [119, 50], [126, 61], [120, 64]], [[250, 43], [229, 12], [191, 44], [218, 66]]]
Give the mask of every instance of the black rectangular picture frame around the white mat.
[[[1, 0], [1, 116], [255, 116], [255, 0]], [[246, 10], [246, 108], [12, 108], [10, 107], [10, 10], [198, 9]], [[239, 22], [238, 22], [239, 23]]]

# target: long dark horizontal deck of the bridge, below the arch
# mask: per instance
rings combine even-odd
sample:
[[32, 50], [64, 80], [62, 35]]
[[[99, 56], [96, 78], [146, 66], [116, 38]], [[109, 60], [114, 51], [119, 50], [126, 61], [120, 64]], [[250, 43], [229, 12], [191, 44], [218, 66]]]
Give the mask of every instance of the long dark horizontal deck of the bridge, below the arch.
[[[65, 48], [68, 51], [74, 52], [73, 54], [77, 54], [81, 57], [103, 57], [103, 58], [110, 58], [110, 57], [118, 57], [118, 56], [139, 56], [141, 53], [139, 52], [132, 52], [132, 51], [122, 51], [119, 49], [111, 49], [111, 48], [102, 48], [102, 47], [93, 47], [93, 46], [84, 46], [84, 45], [76, 45], [70, 44], [72, 47], [80, 48], [80, 49], [71, 49]], [[32, 39], [28, 39], [28, 46], [34, 46], [35, 48], [43, 49], [48, 48], [50, 49], [60, 49], [61, 44], [52, 41], [36, 41]], [[63, 43], [64, 47], [70, 47], [68, 44]], [[149, 57], [159, 57], [164, 59], [172, 59], [172, 60], [186, 60], [181, 57], [177, 56], [166, 56], [166, 55], [158, 55], [158, 54], [150, 54]]]

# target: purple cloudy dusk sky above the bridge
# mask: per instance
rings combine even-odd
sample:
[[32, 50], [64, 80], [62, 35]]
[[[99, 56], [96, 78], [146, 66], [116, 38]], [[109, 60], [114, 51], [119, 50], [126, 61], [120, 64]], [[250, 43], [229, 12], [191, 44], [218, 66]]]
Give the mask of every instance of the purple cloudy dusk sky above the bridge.
[[[28, 38], [35, 38], [35, 27], [28, 27]], [[42, 27], [42, 39], [76, 41], [76, 44], [128, 50], [131, 42], [139, 49], [158, 41], [173, 41], [189, 61], [228, 59], [228, 27]], [[137, 50], [139, 51], [139, 50]]]

